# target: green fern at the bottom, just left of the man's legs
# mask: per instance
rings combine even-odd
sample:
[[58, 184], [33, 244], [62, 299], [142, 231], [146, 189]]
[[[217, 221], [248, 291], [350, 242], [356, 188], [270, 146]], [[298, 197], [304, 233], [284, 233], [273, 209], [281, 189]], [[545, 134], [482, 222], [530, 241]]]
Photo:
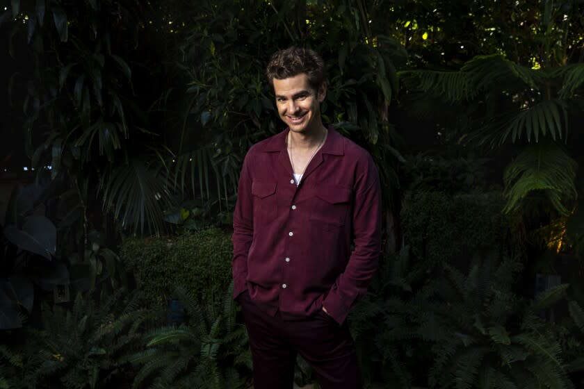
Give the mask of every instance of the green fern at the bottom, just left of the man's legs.
[[187, 324], [165, 326], [145, 334], [146, 349], [129, 356], [140, 366], [134, 388], [241, 388], [251, 370], [245, 326], [236, 322], [233, 283], [222, 304], [201, 306], [184, 288], [175, 295], [184, 304]]

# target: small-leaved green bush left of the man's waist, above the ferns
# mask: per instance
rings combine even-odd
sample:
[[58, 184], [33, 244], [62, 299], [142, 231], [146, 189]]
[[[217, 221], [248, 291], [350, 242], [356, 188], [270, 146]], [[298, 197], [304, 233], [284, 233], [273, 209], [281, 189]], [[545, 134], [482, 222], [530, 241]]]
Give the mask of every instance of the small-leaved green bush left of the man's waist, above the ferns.
[[177, 238], [128, 238], [120, 254], [154, 304], [170, 297], [176, 285], [199, 302], [218, 301], [232, 279], [232, 255], [231, 236], [215, 228]]

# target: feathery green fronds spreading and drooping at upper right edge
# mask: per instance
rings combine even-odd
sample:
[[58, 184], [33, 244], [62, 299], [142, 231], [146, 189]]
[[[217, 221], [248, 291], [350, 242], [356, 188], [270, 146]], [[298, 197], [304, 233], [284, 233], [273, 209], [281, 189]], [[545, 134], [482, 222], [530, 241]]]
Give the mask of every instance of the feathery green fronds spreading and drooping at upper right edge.
[[581, 104], [582, 74], [581, 64], [531, 69], [496, 54], [477, 56], [459, 72], [419, 70], [403, 75], [419, 81], [417, 88], [449, 101], [479, 99], [482, 113], [476, 114], [471, 142], [492, 147], [524, 144], [505, 169], [506, 210], [517, 210], [541, 193], [565, 215], [577, 197], [577, 164], [562, 142], [569, 139], [569, 113]]

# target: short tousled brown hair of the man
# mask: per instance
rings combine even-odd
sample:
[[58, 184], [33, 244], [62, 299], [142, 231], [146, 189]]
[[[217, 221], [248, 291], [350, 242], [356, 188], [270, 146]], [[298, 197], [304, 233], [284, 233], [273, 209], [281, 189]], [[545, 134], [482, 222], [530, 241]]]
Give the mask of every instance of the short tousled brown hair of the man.
[[272, 88], [274, 78], [282, 80], [302, 73], [307, 74], [308, 82], [314, 90], [321, 88], [325, 82], [325, 61], [316, 51], [294, 46], [276, 51], [266, 67], [266, 77]]

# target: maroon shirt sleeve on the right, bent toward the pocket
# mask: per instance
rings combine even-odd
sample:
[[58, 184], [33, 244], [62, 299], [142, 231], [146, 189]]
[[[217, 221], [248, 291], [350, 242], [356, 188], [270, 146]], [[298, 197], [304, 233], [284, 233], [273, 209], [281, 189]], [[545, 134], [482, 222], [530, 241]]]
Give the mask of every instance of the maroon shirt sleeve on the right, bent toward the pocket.
[[381, 188], [378, 169], [371, 156], [357, 173], [352, 207], [352, 233], [355, 249], [345, 271], [337, 278], [323, 306], [339, 324], [355, 302], [367, 291], [378, 266], [381, 249]]

